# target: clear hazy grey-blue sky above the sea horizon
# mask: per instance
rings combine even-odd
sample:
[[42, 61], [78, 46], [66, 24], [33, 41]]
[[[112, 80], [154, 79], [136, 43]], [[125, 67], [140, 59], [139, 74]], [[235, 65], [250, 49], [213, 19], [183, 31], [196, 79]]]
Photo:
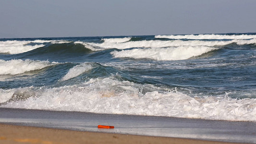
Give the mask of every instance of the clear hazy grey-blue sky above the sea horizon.
[[0, 38], [256, 32], [256, 0], [0, 0]]

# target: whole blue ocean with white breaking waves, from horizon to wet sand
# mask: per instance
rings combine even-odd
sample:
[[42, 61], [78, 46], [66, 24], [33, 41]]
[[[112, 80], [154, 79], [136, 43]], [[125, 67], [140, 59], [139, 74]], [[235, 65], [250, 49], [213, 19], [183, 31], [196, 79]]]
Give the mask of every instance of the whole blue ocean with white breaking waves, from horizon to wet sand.
[[0, 39], [0, 108], [256, 121], [256, 33]]

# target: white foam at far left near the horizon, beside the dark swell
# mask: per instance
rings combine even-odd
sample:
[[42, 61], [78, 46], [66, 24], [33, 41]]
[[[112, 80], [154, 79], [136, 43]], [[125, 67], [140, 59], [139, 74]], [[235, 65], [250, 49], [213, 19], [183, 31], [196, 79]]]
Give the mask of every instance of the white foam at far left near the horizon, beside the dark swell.
[[0, 53], [18, 54], [24, 53], [36, 48], [44, 47], [45, 45], [39, 44], [35, 46], [26, 45], [31, 41], [0, 41]]

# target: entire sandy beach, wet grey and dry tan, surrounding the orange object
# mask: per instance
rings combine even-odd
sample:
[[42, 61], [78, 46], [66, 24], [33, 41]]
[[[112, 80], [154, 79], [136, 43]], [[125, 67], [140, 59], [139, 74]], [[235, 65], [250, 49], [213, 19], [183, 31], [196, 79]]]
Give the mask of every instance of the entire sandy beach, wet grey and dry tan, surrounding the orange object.
[[256, 144], [256, 122], [245, 121], [0, 108], [0, 123], [0, 144]]

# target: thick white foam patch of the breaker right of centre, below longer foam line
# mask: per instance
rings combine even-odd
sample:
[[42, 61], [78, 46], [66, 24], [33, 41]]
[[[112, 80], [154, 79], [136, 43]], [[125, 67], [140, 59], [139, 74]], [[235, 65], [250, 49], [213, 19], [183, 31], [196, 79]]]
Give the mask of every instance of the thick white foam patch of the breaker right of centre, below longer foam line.
[[115, 58], [186, 60], [216, 49], [217, 48], [205, 46], [184, 46], [177, 48], [134, 48], [130, 50], [112, 51], [111, 54]]

